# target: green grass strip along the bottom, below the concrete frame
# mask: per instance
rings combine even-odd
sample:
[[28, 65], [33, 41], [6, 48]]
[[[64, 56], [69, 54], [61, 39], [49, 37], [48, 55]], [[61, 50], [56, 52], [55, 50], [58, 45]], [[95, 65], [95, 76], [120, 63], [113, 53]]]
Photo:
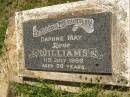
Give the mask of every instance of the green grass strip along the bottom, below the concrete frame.
[[[130, 97], [130, 95], [123, 93], [124, 90], [119, 90], [119, 88], [108, 90], [101, 85], [92, 84], [81, 85], [80, 87], [79, 93], [70, 93], [60, 88], [57, 89], [51, 83], [35, 82], [31, 85], [27, 83], [11, 83], [12, 94], [19, 97]], [[125, 91], [128, 90], [125, 89]]]

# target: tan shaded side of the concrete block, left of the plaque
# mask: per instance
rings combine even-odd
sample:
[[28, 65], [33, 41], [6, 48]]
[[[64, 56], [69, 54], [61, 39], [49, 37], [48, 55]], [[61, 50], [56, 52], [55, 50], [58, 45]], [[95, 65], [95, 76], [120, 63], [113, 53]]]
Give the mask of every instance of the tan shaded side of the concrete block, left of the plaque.
[[7, 97], [10, 81], [18, 81], [15, 20], [10, 17], [6, 31], [4, 54], [0, 56], [0, 97]]

